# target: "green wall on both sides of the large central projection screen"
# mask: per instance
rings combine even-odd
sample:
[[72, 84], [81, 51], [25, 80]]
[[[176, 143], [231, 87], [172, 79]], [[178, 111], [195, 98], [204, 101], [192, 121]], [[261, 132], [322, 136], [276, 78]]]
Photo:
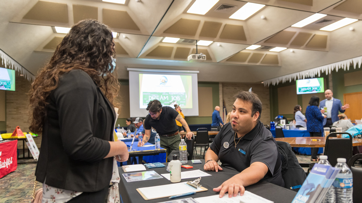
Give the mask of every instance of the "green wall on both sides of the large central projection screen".
[[[119, 80], [122, 85], [129, 85], [128, 80]], [[219, 101], [219, 83], [218, 82], [198, 82], [198, 87], [211, 87], [212, 88], [212, 109], [210, 109], [210, 116], [207, 117], [199, 117], [199, 116], [186, 116], [185, 120], [189, 125], [194, 124], [211, 124], [212, 123], [212, 112], [214, 111], [215, 106], [220, 106]], [[118, 118], [116, 122], [116, 126], [118, 124], [122, 127], [126, 125], [126, 118]]]

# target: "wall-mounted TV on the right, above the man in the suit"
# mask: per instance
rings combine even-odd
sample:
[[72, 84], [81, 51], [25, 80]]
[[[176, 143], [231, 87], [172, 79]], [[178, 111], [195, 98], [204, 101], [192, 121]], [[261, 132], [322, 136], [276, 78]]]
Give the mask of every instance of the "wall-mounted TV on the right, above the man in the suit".
[[296, 94], [324, 92], [324, 78], [296, 80]]

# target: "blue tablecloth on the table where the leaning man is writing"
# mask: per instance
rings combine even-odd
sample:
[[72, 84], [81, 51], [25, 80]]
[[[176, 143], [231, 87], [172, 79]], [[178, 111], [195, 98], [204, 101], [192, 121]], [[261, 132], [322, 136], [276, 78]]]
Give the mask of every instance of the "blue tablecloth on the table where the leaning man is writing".
[[[136, 141], [137, 140], [137, 141]], [[122, 141], [127, 141], [127, 139], [123, 139]], [[132, 143], [132, 139], [130, 142], [125, 142], [128, 145], [131, 145]], [[147, 150], [154, 150], [155, 146], [152, 147], [138, 147], [138, 139], [135, 139], [133, 145], [132, 145], [132, 151], [147, 151]], [[151, 145], [151, 143], [146, 143], [146, 145]], [[161, 149], [163, 149], [161, 147]], [[151, 155], [151, 156], [143, 156], [143, 162], [144, 163], [155, 163], [155, 162], [161, 162], [161, 163], [165, 163], [166, 162], [166, 156], [167, 153], [160, 153], [158, 155]], [[136, 159], [137, 163], [138, 163], [138, 157], [131, 157], [131, 163], [133, 163], [132, 159]], [[122, 163], [123, 165], [127, 165], [127, 161]]]

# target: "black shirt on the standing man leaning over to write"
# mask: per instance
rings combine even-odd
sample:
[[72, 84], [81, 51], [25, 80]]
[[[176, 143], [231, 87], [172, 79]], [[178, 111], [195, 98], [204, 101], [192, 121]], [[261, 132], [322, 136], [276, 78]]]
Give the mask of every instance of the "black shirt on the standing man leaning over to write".
[[175, 118], [178, 112], [171, 107], [162, 107], [159, 120], [153, 120], [151, 115], [147, 115], [144, 119], [144, 129], [150, 130], [153, 127], [159, 135], [168, 135], [176, 133], [178, 128]]

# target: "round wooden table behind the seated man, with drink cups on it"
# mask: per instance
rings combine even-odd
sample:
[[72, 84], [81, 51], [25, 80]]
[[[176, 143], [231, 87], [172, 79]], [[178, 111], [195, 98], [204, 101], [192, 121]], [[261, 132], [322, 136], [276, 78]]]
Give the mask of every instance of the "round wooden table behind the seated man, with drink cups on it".
[[[311, 141], [311, 139], [320, 139], [320, 141]], [[331, 137], [329, 139], [336, 139]], [[289, 137], [275, 138], [276, 141], [283, 141], [290, 144], [291, 147], [325, 147], [325, 137]], [[352, 146], [361, 146], [362, 139], [353, 138]]]

